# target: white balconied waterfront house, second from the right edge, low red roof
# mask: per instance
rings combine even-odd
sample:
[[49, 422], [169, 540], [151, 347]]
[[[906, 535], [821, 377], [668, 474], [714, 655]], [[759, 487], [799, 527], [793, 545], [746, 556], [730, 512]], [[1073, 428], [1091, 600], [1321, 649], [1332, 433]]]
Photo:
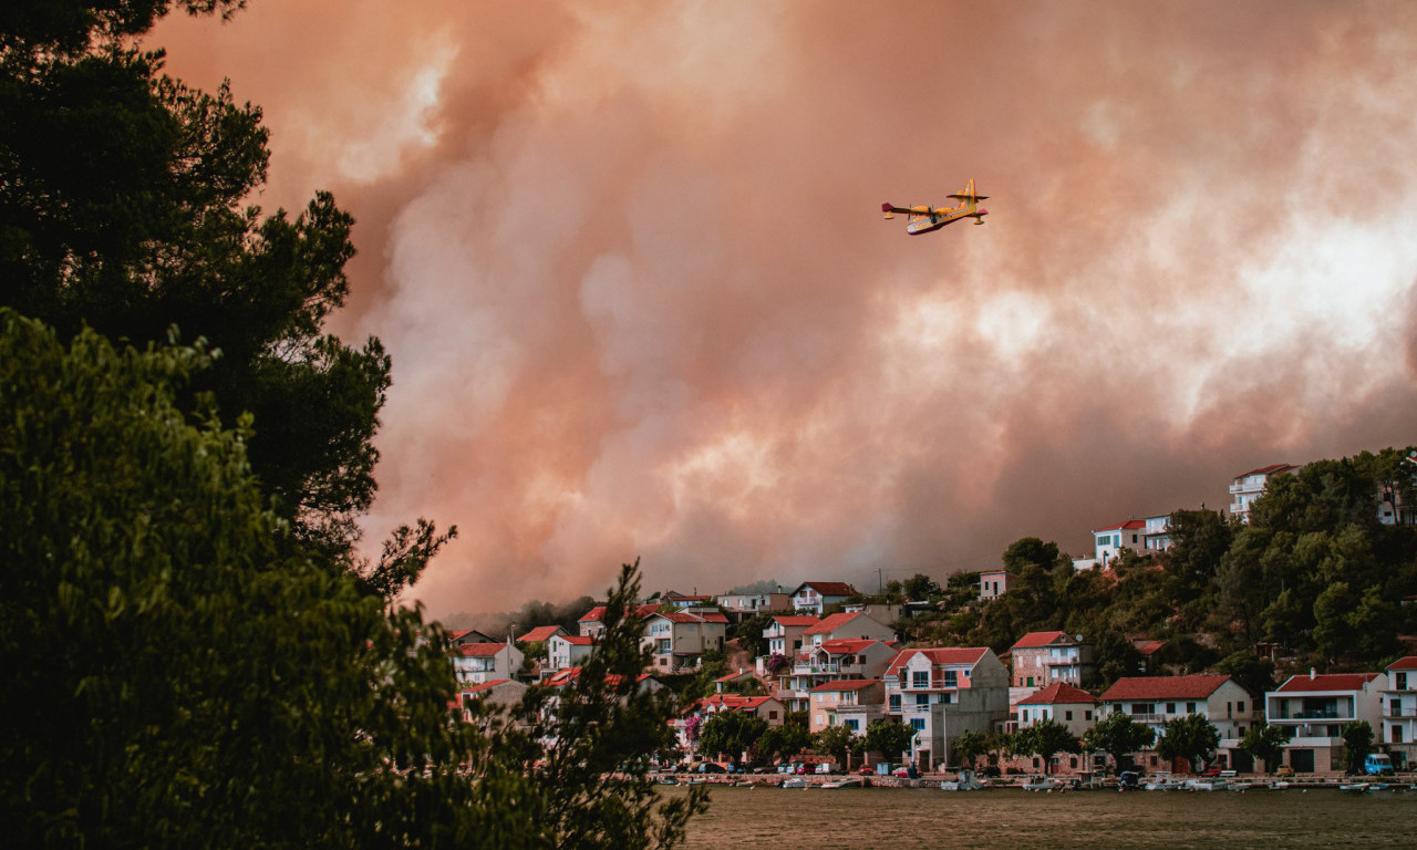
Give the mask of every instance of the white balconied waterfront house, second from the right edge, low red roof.
[[1291, 676], [1264, 696], [1265, 721], [1285, 731], [1285, 762], [1297, 774], [1343, 769], [1343, 725], [1367, 721], [1383, 728], [1383, 673], [1315, 673]]

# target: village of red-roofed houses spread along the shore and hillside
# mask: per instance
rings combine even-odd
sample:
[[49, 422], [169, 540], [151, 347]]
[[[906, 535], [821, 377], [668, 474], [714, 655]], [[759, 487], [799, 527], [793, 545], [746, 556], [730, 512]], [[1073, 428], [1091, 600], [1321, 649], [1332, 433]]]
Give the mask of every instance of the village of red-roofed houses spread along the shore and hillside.
[[[1244, 523], [1267, 483], [1297, 469], [1275, 465], [1236, 476], [1231, 516]], [[1382, 524], [1414, 524], [1414, 514], [1396, 493], [1379, 499]], [[1169, 531], [1169, 516], [1095, 528], [1094, 551], [1073, 558], [1071, 567], [1105, 572], [1129, 552], [1165, 552], [1172, 545]], [[1013, 592], [1016, 578], [1007, 570], [979, 572], [975, 604], [996, 604]], [[642, 687], [669, 687], [669, 680], [703, 670], [706, 659], [727, 669], [711, 680], [711, 693], [693, 698], [673, 722], [677, 748], [666, 754], [666, 768], [908, 778], [962, 771], [962, 776], [1002, 778], [996, 782], [1032, 782], [1043, 775], [1044, 782], [1073, 783], [1122, 772], [1335, 778], [1363, 772], [1349, 758], [1355, 742], [1348, 732], [1359, 724], [1370, 731], [1363, 744], [1367, 772], [1404, 772], [1417, 762], [1417, 652], [1372, 670], [1309, 667], [1255, 691], [1226, 673], [1168, 669], [1155, 662], [1165, 642], [1136, 635], [1136, 669], [1098, 687], [1095, 646], [1085, 633], [1020, 633], [1005, 652], [908, 642], [893, 623], [913, 608], [928, 606], [874, 602], [852, 584], [829, 578], [777, 592], [666, 591], [645, 599], [626, 612], [640, 623], [642, 647], [650, 657]], [[574, 632], [537, 626], [502, 640], [475, 629], [455, 632], [452, 663], [463, 704], [513, 703], [531, 684], [554, 687], [572, 680], [594, 652], [605, 615], [604, 606], [594, 606], [580, 616]], [[744, 622], [764, 626], [757, 642], [764, 652], [751, 653], [730, 640]], [[1255, 647], [1261, 654], [1265, 650], [1264, 645]], [[760, 730], [795, 722], [805, 725], [813, 741], [829, 730], [846, 730], [857, 741], [837, 747], [837, 754], [805, 747], [775, 758], [748, 748], [721, 752], [701, 747], [704, 724], [726, 713], [755, 718]], [[1118, 714], [1148, 744], [1128, 752], [1088, 747], [1094, 740], [1090, 732]], [[1182, 720], [1213, 730], [1210, 745], [1197, 748], [1196, 755], [1172, 751], [1168, 756], [1162, 741]], [[883, 722], [907, 730], [898, 737], [900, 752], [871, 751], [863, 744], [869, 730]], [[1064, 728], [1064, 742], [1033, 747], [1032, 752], [1017, 744], [1029, 740], [1020, 732], [1040, 724]], [[1265, 727], [1278, 730], [1270, 732], [1268, 758], [1247, 745], [1247, 732]]]

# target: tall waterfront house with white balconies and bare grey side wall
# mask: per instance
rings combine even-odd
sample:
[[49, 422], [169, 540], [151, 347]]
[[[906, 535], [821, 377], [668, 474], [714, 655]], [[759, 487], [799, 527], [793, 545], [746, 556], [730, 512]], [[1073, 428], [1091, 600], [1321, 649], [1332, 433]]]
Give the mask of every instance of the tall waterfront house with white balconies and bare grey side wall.
[[947, 764], [966, 730], [992, 732], [1009, 717], [1009, 672], [988, 647], [903, 650], [886, 670], [886, 714], [913, 728], [910, 758]]

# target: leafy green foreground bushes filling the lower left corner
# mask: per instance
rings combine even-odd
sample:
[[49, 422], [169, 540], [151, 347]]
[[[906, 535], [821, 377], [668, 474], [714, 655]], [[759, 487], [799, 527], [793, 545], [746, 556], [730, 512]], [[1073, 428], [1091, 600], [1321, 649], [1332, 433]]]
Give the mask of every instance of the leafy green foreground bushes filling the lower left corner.
[[[0, 310], [0, 822], [24, 847], [660, 847], [672, 694], [609, 618], [577, 683], [509, 715], [446, 639], [290, 534], [247, 422], [190, 424], [200, 348], [68, 348]], [[626, 567], [612, 611], [638, 592]], [[555, 708], [550, 711], [550, 708]]]

